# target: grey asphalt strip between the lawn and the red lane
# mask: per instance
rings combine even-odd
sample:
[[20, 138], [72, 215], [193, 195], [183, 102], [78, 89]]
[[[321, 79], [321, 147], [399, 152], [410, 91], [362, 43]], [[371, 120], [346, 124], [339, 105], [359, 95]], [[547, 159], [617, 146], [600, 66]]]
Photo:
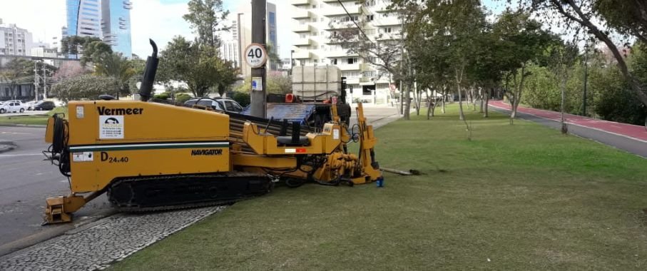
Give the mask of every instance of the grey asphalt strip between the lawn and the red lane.
[[[499, 105], [495, 104], [495, 106]], [[509, 110], [506, 108], [494, 106], [491, 106], [490, 108], [495, 111], [509, 113]], [[521, 107], [519, 107], [519, 109], [521, 109]], [[534, 111], [537, 110], [534, 109]], [[561, 129], [561, 124], [559, 123], [559, 121], [556, 121], [554, 119], [554, 116], [551, 115], [538, 116], [536, 114], [524, 112], [523, 110], [518, 110], [517, 116], [527, 121], [540, 123], [544, 126], [549, 126], [558, 130]], [[626, 150], [628, 153], [633, 153], [642, 156], [643, 158], [647, 158], [647, 141], [641, 140], [641, 138], [638, 138], [635, 133], [628, 133], [625, 135], [618, 131], [604, 131], [604, 126], [587, 127], [586, 125], [588, 124], [581, 121], [574, 121], [569, 123], [569, 121], [567, 120], [566, 123], [568, 124], [569, 133], [571, 134], [581, 136], [583, 138], [589, 138], [599, 143], [610, 145], [620, 150]], [[623, 123], [613, 123], [610, 121], [606, 121], [606, 123], [608, 123], [607, 126], [609, 129], [613, 129], [613, 126], [618, 127], [623, 125]], [[645, 131], [645, 133], [647, 133], [647, 131]]]

